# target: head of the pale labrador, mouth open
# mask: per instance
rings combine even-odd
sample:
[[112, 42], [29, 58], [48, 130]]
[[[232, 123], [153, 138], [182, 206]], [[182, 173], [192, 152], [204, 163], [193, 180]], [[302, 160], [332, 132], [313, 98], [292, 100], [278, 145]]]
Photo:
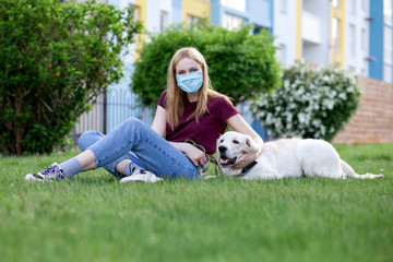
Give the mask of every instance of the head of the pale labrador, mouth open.
[[240, 175], [241, 169], [231, 168], [239, 157], [247, 153], [257, 153], [260, 145], [257, 144], [249, 135], [228, 131], [217, 140], [218, 164], [225, 175]]

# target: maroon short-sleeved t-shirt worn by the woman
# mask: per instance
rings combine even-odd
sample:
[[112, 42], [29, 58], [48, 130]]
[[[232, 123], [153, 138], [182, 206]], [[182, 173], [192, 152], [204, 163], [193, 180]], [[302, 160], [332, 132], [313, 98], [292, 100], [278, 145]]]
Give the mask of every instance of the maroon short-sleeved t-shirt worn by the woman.
[[[162, 94], [158, 106], [165, 107], [166, 92]], [[206, 153], [212, 155], [216, 151], [216, 141], [227, 128], [226, 120], [239, 114], [230, 103], [223, 97], [214, 97], [209, 100], [207, 110], [196, 122], [195, 117], [189, 117], [195, 111], [198, 102], [189, 102], [186, 98], [184, 112], [179, 124], [171, 130], [169, 123], [166, 126], [165, 139], [170, 142], [183, 142], [193, 140], [206, 148]]]

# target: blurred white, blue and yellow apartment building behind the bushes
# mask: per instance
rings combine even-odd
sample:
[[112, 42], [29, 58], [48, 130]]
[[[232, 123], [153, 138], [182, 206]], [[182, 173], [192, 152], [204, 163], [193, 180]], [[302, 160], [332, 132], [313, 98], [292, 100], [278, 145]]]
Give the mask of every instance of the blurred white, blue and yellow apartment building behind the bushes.
[[[144, 29], [159, 33], [172, 23], [201, 19], [236, 29], [254, 25], [253, 34], [270, 31], [284, 67], [297, 60], [336, 64], [365, 78], [393, 83], [393, 0], [99, 0], [122, 9], [132, 4]], [[130, 45], [124, 78], [82, 116], [75, 136], [87, 129], [109, 132], [129, 117], [152, 122], [152, 111], [138, 104], [129, 84], [138, 49], [146, 34]], [[241, 108], [240, 108], [241, 110]], [[247, 112], [243, 112], [247, 116]], [[102, 118], [104, 117], [104, 120]], [[100, 118], [100, 119], [94, 119]], [[92, 126], [99, 124], [99, 127]]]

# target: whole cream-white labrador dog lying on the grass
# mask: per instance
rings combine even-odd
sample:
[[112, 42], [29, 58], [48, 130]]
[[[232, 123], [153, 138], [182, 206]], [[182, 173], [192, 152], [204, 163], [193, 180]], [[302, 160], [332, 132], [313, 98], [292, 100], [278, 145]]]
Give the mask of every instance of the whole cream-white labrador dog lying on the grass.
[[217, 140], [218, 164], [227, 176], [241, 176], [243, 179], [279, 179], [285, 177], [326, 177], [326, 178], [380, 178], [383, 175], [358, 175], [342, 160], [334, 147], [313, 139], [283, 139], [264, 143], [261, 156], [243, 169], [233, 165], [245, 153], [259, 152], [260, 145], [238, 132], [229, 131]]

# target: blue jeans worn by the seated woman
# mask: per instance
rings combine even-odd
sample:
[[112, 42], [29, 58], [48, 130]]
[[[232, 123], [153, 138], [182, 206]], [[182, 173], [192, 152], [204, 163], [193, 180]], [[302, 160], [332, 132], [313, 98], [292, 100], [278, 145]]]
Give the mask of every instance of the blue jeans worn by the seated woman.
[[104, 167], [114, 176], [123, 159], [131, 159], [158, 177], [198, 178], [198, 168], [179, 150], [159, 136], [153, 129], [136, 118], [130, 118], [104, 135], [96, 131], [84, 132], [79, 145], [91, 150], [96, 158], [96, 168]]

